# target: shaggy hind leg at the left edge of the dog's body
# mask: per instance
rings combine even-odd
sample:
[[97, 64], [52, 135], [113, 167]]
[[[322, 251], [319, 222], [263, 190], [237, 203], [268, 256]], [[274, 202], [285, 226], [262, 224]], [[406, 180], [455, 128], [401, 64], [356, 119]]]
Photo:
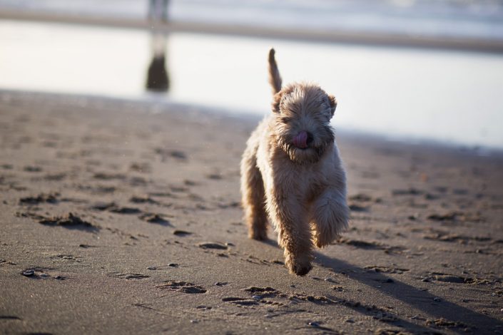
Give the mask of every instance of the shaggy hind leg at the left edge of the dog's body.
[[268, 218], [265, 212], [265, 195], [262, 175], [257, 167], [256, 148], [246, 148], [241, 160], [241, 202], [245, 210], [248, 236], [267, 239]]

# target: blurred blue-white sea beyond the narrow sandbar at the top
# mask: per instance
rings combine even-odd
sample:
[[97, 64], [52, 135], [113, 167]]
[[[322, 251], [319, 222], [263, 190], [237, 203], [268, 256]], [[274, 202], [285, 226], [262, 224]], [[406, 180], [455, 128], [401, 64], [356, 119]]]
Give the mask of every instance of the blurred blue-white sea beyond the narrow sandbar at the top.
[[[0, 0], [1, 9], [143, 19], [148, 0]], [[503, 0], [170, 0], [180, 21], [503, 41]]]

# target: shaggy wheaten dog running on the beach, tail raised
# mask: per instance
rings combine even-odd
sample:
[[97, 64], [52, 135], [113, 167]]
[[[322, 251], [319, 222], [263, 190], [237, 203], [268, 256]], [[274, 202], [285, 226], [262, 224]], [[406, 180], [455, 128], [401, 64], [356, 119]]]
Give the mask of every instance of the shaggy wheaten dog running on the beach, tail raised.
[[269, 53], [273, 113], [253, 131], [241, 160], [241, 194], [253, 239], [278, 232], [290, 272], [307, 274], [313, 244], [324, 247], [347, 228], [345, 171], [330, 127], [335, 106], [313, 83], [281, 87]]

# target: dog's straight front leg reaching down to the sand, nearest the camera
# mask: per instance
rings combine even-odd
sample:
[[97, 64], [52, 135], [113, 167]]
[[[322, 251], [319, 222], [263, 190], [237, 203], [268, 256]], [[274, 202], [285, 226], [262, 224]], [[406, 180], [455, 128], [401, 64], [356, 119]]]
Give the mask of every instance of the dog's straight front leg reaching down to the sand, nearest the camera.
[[307, 209], [283, 185], [276, 185], [267, 193], [269, 216], [284, 249], [285, 264], [291, 273], [303, 276], [312, 269], [313, 259]]

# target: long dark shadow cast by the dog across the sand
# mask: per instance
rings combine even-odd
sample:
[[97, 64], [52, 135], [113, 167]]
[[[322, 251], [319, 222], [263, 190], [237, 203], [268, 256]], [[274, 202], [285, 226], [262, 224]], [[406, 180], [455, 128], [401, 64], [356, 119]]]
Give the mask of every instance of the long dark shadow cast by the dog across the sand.
[[[370, 287], [375, 287], [380, 284], [380, 292], [389, 295], [395, 299], [409, 304], [415, 309], [419, 309], [425, 313], [425, 317], [432, 319], [444, 319], [451, 327], [449, 331], [464, 332], [464, 324], [469, 328], [477, 329], [479, 334], [487, 334], [494, 332], [495, 329], [502, 329], [503, 322], [498, 319], [493, 319], [490, 316], [480, 314], [477, 311], [472, 311], [465, 307], [454, 304], [450, 301], [440, 299], [429, 292], [418, 289], [409, 284], [397, 281], [395, 278], [385, 276], [380, 272], [369, 272], [368, 270], [356, 267], [355, 265], [328, 257], [319, 252], [315, 253], [316, 262], [322, 264], [322, 267], [332, 269], [335, 273], [344, 272], [347, 277], [356, 280]], [[455, 292], [455, 291], [453, 291]], [[349, 305], [350, 306], [350, 305]], [[365, 309], [357, 309], [363, 310]], [[367, 313], [368, 314], [368, 313]], [[404, 319], [397, 317], [397, 325], [403, 326], [409, 331], [431, 331], [430, 329], [422, 328], [418, 324], [412, 324]]]

